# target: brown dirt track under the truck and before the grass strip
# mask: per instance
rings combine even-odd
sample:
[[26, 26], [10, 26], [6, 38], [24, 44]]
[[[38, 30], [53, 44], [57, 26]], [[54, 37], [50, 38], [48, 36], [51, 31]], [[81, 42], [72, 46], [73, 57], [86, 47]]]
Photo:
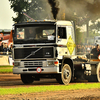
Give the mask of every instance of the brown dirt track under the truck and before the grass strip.
[[[77, 83], [70, 83], [77, 84]], [[92, 84], [92, 83], [91, 83]], [[24, 85], [19, 75], [0, 74], [0, 87], [20, 87], [20, 86], [40, 86], [40, 85], [59, 85], [55, 79], [40, 80], [31, 85]], [[20, 95], [0, 96], [0, 100], [100, 100], [100, 89], [56, 91], [44, 93], [30, 93]]]

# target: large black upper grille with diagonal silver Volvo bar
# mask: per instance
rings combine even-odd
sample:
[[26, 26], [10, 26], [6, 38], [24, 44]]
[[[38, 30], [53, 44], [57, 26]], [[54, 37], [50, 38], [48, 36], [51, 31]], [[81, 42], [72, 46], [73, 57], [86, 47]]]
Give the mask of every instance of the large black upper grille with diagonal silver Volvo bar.
[[14, 48], [14, 59], [53, 58], [53, 47]]

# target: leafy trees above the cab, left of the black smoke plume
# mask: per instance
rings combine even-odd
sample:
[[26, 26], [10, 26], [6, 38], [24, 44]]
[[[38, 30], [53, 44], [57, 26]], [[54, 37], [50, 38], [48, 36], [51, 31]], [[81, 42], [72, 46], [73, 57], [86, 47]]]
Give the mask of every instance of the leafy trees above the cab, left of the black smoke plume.
[[24, 16], [23, 12], [28, 14], [35, 20], [41, 20], [48, 17], [47, 13], [47, 2], [46, 0], [9, 0], [11, 8], [17, 13], [17, 17], [13, 18], [15, 22], [23, 22], [29, 20]]

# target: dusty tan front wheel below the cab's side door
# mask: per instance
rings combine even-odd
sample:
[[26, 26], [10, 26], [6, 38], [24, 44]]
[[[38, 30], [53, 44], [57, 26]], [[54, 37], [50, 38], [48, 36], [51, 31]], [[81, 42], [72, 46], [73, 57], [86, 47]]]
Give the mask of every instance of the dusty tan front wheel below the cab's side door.
[[63, 84], [68, 85], [71, 81], [71, 77], [72, 77], [71, 68], [68, 64], [65, 64], [62, 68], [62, 74], [61, 74]]

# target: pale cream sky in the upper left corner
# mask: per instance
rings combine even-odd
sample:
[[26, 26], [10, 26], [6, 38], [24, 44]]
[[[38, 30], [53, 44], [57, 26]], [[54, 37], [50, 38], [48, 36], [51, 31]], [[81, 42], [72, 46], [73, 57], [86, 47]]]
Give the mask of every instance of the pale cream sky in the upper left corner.
[[12, 29], [14, 24], [12, 17], [16, 14], [10, 8], [9, 0], [0, 0], [0, 29]]

